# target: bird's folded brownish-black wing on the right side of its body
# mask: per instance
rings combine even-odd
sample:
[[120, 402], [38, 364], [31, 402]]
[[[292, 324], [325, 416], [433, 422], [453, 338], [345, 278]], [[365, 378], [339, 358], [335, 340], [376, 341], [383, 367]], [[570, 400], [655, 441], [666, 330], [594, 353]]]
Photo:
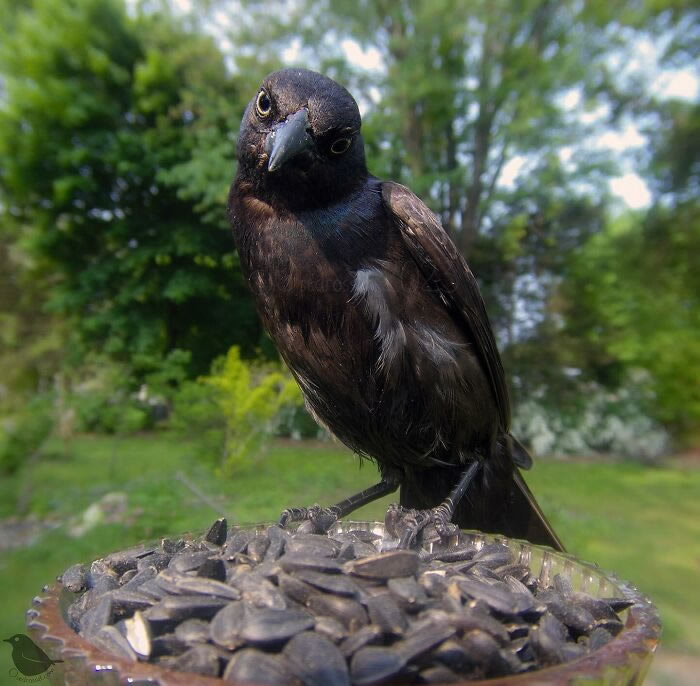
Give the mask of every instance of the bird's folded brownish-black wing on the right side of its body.
[[466, 260], [435, 214], [408, 188], [384, 182], [382, 199], [423, 275], [439, 290], [455, 321], [472, 342], [489, 379], [500, 423], [507, 431], [510, 401], [503, 365], [479, 286]]

